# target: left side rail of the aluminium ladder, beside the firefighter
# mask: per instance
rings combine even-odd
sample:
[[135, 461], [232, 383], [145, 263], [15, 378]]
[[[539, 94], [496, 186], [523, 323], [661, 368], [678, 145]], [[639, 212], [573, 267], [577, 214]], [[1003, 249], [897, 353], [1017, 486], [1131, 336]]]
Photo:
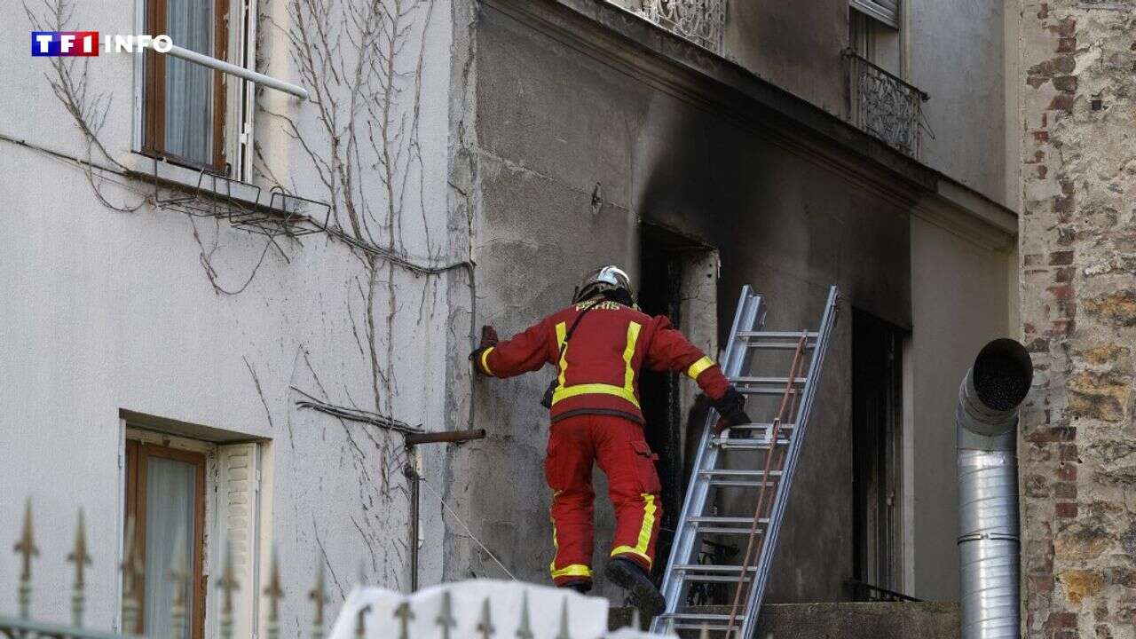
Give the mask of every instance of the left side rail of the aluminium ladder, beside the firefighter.
[[[729, 338], [726, 343], [726, 350], [724, 351], [724, 357], [721, 362], [722, 373], [728, 376], [736, 376], [742, 367], [749, 362], [746, 352], [751, 349], [744, 340], [737, 339], [737, 333], [740, 331], [752, 331], [757, 327], [763, 320], [763, 308], [762, 308], [762, 297], [755, 294], [749, 284], [742, 287], [742, 293], [738, 296], [737, 310], [734, 313], [734, 322], [730, 325]], [[676, 531], [674, 542], [670, 546], [670, 556], [667, 561], [667, 567], [663, 571], [662, 586], [660, 591], [667, 606], [663, 613], [675, 613], [678, 609], [679, 597], [683, 590], [683, 578], [677, 574], [673, 566], [692, 561], [692, 555], [694, 553], [694, 541], [698, 538], [698, 529], [687, 524], [687, 520], [695, 515], [701, 514], [702, 508], [705, 506], [705, 499], [710, 490], [710, 484], [705, 479], [702, 479], [699, 474], [699, 470], [705, 467], [712, 467], [718, 458], [718, 448], [710, 446], [710, 438], [712, 433], [713, 423], [717, 421], [718, 414], [712, 408], [707, 414], [707, 420], [704, 428], [702, 429], [702, 434], [700, 437], [700, 443], [698, 447], [698, 453], [694, 457], [694, 471], [691, 473], [691, 483], [688, 484], [688, 490], [686, 492], [686, 498], [683, 499], [683, 509], [678, 516], [678, 530]], [[662, 630], [661, 617], [655, 617], [652, 623], [653, 631]]]

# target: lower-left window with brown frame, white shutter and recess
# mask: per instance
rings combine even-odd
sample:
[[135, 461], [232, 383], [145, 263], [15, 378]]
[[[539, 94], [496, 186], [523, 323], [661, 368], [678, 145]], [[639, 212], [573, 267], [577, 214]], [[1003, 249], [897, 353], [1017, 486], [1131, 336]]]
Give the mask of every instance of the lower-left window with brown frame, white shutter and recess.
[[133, 591], [140, 607], [136, 626], [123, 630], [147, 637], [174, 636], [170, 608], [176, 590], [170, 566], [177, 546], [184, 543], [187, 588], [183, 591], [185, 629], [181, 639], [201, 639], [207, 620], [220, 614], [222, 600], [211, 596], [204, 575], [222, 573], [226, 548], [239, 583], [233, 594], [233, 637], [254, 637], [260, 564], [265, 561], [260, 551], [260, 458], [265, 445], [215, 443], [134, 424], [194, 437], [202, 432], [200, 426], [140, 414], [132, 423], [124, 422], [124, 515], [127, 522], [134, 521], [133, 548], [140, 576]]

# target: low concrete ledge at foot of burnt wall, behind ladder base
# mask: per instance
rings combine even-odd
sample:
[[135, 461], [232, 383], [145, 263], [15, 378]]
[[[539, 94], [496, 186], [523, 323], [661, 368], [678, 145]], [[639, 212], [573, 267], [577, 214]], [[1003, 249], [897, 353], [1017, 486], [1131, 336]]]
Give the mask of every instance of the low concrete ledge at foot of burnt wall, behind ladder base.
[[[699, 612], [728, 614], [728, 607]], [[611, 608], [610, 628], [630, 623], [630, 608]], [[958, 639], [955, 601], [770, 604], [762, 608], [760, 639]], [[684, 634], [685, 637], [686, 634]], [[690, 633], [698, 637], [698, 633]]]

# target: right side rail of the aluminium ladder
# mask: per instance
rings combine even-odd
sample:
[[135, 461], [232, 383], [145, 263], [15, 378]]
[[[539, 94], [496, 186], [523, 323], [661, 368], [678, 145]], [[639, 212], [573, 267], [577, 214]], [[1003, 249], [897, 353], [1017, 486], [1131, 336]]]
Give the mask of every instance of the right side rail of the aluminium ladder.
[[820, 327], [817, 330], [819, 333], [817, 346], [812, 351], [812, 360], [809, 363], [808, 381], [804, 384], [801, 406], [795, 417], [796, 428], [793, 430], [792, 441], [785, 455], [785, 463], [782, 466], [782, 481], [777, 484], [777, 491], [774, 495], [772, 512], [769, 514], [769, 523], [766, 525], [766, 539], [761, 545], [757, 580], [750, 589], [749, 601], [746, 601], [745, 620], [742, 622], [742, 632], [738, 636], [743, 639], [752, 637], [754, 630], [757, 630], [758, 613], [761, 607], [762, 597], [765, 596], [766, 586], [769, 581], [774, 554], [777, 549], [777, 533], [780, 530], [780, 522], [785, 513], [786, 503], [788, 501], [788, 493], [793, 483], [793, 471], [796, 468], [796, 460], [800, 456], [801, 446], [804, 442], [804, 433], [809, 423], [809, 414], [812, 410], [816, 388], [820, 382], [819, 376], [822, 372], [825, 355], [828, 351], [829, 338], [836, 322], [836, 305], [840, 293], [836, 287], [830, 287], [828, 289], [828, 300], [825, 304], [825, 312], [820, 318]]

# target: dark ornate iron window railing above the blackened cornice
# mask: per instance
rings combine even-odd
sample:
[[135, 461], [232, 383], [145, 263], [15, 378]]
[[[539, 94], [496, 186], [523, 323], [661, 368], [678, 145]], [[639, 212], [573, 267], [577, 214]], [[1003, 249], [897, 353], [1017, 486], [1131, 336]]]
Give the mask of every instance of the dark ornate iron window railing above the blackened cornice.
[[922, 133], [932, 139], [922, 103], [927, 93], [903, 82], [851, 49], [845, 49], [849, 72], [849, 114], [861, 130], [919, 159]]

